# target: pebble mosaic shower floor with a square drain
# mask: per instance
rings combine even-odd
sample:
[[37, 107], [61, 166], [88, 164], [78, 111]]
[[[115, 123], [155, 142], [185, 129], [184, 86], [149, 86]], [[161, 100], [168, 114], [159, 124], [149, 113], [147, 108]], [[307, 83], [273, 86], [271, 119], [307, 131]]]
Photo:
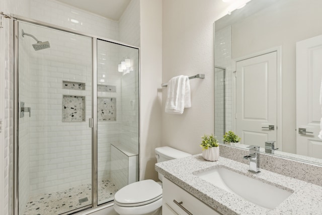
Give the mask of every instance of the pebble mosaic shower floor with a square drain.
[[[99, 181], [99, 204], [113, 200], [117, 188], [109, 180]], [[81, 185], [67, 190], [31, 196], [24, 215], [58, 215], [92, 203], [92, 185]]]

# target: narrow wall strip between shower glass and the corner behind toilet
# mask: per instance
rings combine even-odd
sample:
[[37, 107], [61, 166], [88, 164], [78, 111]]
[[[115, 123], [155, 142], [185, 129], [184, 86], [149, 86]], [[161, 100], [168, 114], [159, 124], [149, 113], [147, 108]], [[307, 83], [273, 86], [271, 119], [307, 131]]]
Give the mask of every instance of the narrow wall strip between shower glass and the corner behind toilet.
[[141, 0], [140, 180], [157, 179], [154, 149], [161, 146], [162, 0]]

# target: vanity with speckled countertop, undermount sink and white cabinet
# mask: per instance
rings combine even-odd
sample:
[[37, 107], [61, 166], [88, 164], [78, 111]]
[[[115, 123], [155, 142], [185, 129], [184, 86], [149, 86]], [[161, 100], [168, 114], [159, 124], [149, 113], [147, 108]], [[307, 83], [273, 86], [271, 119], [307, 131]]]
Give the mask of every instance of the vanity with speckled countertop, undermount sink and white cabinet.
[[[321, 186], [265, 169], [251, 173], [249, 165], [223, 157], [209, 162], [195, 155], [157, 163], [155, 170], [166, 178], [164, 215], [321, 214], [322, 211]], [[222, 186], [226, 182], [232, 187]]]

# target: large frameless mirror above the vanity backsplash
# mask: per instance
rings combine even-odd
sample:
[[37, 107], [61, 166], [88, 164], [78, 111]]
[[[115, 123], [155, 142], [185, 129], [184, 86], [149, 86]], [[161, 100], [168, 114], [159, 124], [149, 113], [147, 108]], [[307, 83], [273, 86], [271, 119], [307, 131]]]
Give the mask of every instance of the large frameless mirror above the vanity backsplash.
[[321, 20], [320, 0], [253, 0], [214, 23], [218, 139], [322, 165]]

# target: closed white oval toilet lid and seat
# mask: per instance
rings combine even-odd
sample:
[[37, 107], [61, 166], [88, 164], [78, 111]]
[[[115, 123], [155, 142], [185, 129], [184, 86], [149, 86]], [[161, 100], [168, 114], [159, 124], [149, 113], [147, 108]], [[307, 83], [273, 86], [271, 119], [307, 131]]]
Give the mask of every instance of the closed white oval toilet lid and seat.
[[119, 205], [143, 205], [162, 197], [162, 187], [153, 180], [143, 180], [129, 184], [114, 195]]

